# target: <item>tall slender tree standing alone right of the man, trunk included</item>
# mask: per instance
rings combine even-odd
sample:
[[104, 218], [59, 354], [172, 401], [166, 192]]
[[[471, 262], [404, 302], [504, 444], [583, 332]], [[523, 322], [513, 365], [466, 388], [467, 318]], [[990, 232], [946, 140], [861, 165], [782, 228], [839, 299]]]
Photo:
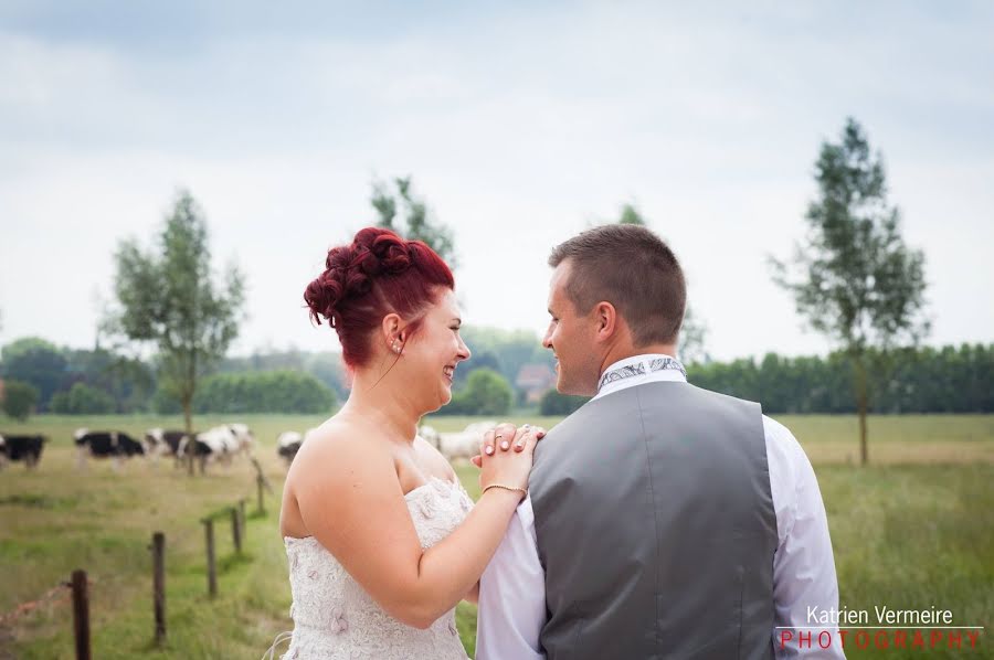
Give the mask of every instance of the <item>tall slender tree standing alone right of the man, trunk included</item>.
[[867, 449], [868, 351], [917, 344], [929, 329], [924, 256], [905, 245], [900, 212], [887, 200], [881, 157], [871, 155], [855, 119], [815, 163], [818, 194], [808, 204], [807, 235], [790, 263], [771, 257], [774, 281], [793, 295], [811, 327], [837, 342], [853, 364], [859, 448]]

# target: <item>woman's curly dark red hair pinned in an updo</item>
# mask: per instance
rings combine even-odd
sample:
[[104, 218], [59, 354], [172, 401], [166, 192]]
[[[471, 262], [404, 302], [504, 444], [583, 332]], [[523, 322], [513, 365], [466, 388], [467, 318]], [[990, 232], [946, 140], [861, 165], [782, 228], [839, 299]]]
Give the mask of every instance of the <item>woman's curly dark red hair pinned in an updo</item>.
[[370, 339], [383, 317], [395, 312], [409, 321], [410, 339], [440, 287], [454, 289], [455, 280], [435, 251], [390, 230], [366, 227], [351, 245], [328, 251], [325, 272], [307, 285], [304, 301], [311, 319], [320, 324], [324, 317], [335, 328], [345, 363], [356, 369], [372, 358]]

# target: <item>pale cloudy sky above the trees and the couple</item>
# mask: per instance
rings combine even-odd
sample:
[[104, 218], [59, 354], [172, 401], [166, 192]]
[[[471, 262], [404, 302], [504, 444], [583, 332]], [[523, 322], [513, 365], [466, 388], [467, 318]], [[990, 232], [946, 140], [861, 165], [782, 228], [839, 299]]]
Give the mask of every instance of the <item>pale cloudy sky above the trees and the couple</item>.
[[924, 252], [928, 343], [992, 342], [991, 34], [981, 1], [0, 0], [0, 344], [93, 345], [114, 251], [183, 188], [246, 274], [232, 352], [335, 350], [304, 288], [411, 175], [464, 322], [541, 332], [550, 249], [632, 202], [713, 358], [825, 353], [768, 257], [848, 116]]

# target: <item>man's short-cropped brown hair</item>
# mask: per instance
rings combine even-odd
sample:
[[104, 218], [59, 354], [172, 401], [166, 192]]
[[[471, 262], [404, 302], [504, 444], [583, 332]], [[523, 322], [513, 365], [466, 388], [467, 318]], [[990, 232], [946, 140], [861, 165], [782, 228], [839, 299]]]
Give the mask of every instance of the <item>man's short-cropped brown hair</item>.
[[557, 245], [549, 265], [567, 259], [565, 292], [578, 313], [604, 300], [625, 319], [636, 347], [676, 342], [687, 287], [676, 255], [656, 234], [631, 224], [594, 227]]

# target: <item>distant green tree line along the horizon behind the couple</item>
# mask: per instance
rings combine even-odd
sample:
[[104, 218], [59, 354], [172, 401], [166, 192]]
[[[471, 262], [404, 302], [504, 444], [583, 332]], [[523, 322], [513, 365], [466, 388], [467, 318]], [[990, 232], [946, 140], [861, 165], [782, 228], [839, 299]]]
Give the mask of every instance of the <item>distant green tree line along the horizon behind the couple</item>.
[[[443, 414], [501, 415], [524, 407], [514, 385], [524, 364], [548, 360], [528, 331], [468, 327], [474, 358], [456, 370], [453, 402]], [[868, 411], [902, 413], [994, 413], [994, 344], [922, 347], [869, 351]], [[546, 363], [546, 362], [538, 362]], [[700, 362], [688, 365], [695, 385], [758, 401], [769, 414], [856, 412], [854, 364], [846, 351], [826, 356], [784, 356]], [[181, 412], [178, 398], [145, 362], [106, 349], [59, 349], [24, 338], [0, 349], [0, 376], [8, 398], [23, 384], [29, 404], [54, 414]], [[168, 382], [168, 381], [167, 381]], [[17, 397], [17, 394], [15, 394]], [[194, 413], [306, 413], [334, 411], [348, 397], [338, 353], [278, 351], [223, 360], [193, 396]], [[586, 398], [554, 388], [539, 405], [543, 415], [567, 415]]]

